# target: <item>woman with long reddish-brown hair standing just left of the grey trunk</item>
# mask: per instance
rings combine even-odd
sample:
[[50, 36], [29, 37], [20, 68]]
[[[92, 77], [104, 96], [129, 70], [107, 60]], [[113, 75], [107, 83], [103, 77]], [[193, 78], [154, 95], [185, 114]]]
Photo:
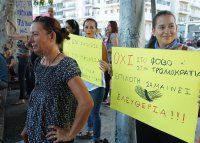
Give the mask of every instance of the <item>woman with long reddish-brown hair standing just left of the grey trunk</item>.
[[[112, 63], [112, 47], [118, 46], [118, 26], [116, 21], [109, 21], [107, 26], [107, 35], [108, 39], [106, 41], [106, 48], [108, 52], [108, 60], [109, 63]], [[111, 76], [106, 70], [105, 74], [105, 81], [106, 81], [106, 89], [104, 94], [104, 104], [110, 105], [110, 99], [108, 98], [108, 94], [110, 92], [110, 82], [111, 82]]]

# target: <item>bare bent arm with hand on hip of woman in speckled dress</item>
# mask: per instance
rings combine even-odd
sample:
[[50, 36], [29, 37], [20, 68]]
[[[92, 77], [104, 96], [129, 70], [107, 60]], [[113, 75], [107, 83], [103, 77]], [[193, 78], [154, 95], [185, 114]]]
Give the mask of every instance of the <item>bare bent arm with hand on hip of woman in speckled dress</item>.
[[49, 132], [47, 134], [47, 138], [49, 140], [54, 139], [56, 134], [56, 143], [74, 139], [79, 131], [84, 127], [92, 107], [94, 106], [93, 100], [79, 76], [72, 78], [67, 84], [75, 96], [78, 106], [73, 125], [70, 129], [62, 129], [55, 125], [49, 126], [49, 128], [52, 128], [56, 131]]

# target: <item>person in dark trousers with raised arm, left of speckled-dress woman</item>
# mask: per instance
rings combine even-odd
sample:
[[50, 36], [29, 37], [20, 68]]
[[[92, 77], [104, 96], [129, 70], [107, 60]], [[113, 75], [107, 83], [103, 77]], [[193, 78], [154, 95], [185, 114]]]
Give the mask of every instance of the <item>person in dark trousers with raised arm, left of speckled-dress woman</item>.
[[16, 57], [18, 59], [18, 78], [20, 83], [20, 96], [19, 101], [14, 103], [13, 105], [24, 104], [25, 99], [29, 98], [31, 91], [33, 90], [32, 81], [30, 77], [30, 50], [26, 47], [25, 43], [28, 41], [29, 36], [26, 35], [19, 35], [19, 34], [10, 34], [9, 25], [14, 24], [7, 20], [6, 21], [6, 31], [8, 38], [17, 41], [17, 52]]

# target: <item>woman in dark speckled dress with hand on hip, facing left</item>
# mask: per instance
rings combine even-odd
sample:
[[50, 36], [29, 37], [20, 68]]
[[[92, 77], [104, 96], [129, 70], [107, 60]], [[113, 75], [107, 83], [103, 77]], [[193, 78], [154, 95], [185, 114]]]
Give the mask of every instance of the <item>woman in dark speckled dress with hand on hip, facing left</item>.
[[36, 17], [30, 31], [29, 43], [40, 57], [34, 63], [35, 88], [21, 135], [26, 143], [73, 143], [93, 101], [77, 62], [59, 51], [69, 33], [56, 19], [46, 16]]

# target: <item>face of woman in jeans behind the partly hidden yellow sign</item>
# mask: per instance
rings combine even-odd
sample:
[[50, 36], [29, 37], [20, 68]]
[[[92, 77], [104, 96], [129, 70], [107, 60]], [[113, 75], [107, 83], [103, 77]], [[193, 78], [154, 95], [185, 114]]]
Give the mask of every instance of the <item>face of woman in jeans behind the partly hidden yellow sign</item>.
[[94, 21], [86, 21], [84, 25], [85, 36], [89, 38], [95, 38], [97, 28]]

